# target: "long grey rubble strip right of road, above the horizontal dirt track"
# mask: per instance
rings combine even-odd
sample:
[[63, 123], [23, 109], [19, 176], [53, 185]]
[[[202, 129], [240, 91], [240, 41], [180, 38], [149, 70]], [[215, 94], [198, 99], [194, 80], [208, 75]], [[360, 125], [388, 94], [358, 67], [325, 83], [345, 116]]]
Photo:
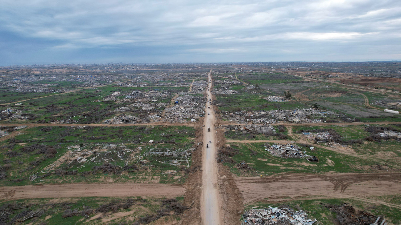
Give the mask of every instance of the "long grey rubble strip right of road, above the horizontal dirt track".
[[[287, 121], [290, 123], [324, 123], [322, 120], [328, 115], [337, 114], [330, 111], [316, 110], [313, 108], [295, 110], [269, 110], [269, 111], [245, 111], [225, 112], [222, 117], [227, 121], [237, 123], [276, 123]], [[315, 118], [314, 118], [315, 117]], [[308, 119], [310, 118], [310, 119]]]

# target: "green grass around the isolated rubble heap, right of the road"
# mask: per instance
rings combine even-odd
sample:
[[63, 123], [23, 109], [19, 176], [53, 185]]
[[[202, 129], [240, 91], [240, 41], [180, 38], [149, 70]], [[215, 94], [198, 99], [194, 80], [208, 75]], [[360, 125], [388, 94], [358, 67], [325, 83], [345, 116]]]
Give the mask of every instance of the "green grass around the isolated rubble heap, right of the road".
[[[298, 145], [300, 146], [300, 145]], [[239, 153], [234, 155], [232, 159], [236, 163], [245, 161], [250, 167], [255, 169], [256, 173], [271, 175], [274, 173], [285, 172], [307, 172], [307, 173], [350, 173], [350, 172], [369, 172], [376, 171], [373, 167], [376, 164], [387, 165], [389, 168], [399, 168], [397, 161], [390, 159], [363, 159], [330, 151], [327, 149], [316, 147], [311, 150], [308, 147], [301, 147], [306, 155], [316, 155], [319, 162], [309, 162], [306, 159], [289, 158], [284, 159], [270, 155], [263, 147], [263, 143], [236, 143], [231, 145], [234, 149], [238, 149]], [[255, 154], [257, 153], [257, 154]], [[225, 163], [231, 168], [231, 172], [238, 176], [244, 174], [238, 170], [235, 164]], [[371, 169], [364, 169], [367, 166]]]

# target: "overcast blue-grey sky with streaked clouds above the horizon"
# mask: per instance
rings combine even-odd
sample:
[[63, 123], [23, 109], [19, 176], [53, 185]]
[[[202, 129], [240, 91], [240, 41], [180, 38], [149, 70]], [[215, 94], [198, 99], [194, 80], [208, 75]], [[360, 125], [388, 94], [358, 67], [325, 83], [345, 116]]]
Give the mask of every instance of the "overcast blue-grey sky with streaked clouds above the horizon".
[[401, 59], [401, 0], [1, 0], [0, 65]]

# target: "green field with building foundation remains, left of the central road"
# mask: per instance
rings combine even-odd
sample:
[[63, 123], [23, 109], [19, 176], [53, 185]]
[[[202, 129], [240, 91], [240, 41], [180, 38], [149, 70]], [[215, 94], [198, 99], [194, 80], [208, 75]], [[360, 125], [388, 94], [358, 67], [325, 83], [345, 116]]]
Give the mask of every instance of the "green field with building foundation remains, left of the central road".
[[[3, 171], [6, 176], [0, 180], [0, 185], [98, 182], [105, 178], [116, 182], [158, 179], [164, 171], [180, 171], [181, 167], [160, 163], [154, 157], [138, 156], [142, 156], [146, 148], [189, 149], [194, 137], [194, 128], [185, 126], [33, 127], [0, 143], [0, 162], [2, 167], [7, 168]], [[149, 140], [159, 144], [150, 145]], [[137, 151], [138, 147], [142, 150]], [[85, 161], [78, 162], [77, 157], [85, 158]], [[149, 162], [146, 163], [146, 160]], [[112, 169], [110, 172], [103, 170], [102, 174], [99, 173], [101, 170], [93, 173], [95, 166], [100, 167], [107, 162], [118, 167], [118, 172]], [[55, 166], [51, 166], [53, 164]], [[133, 168], [124, 169], [126, 165]], [[57, 169], [68, 173], [75, 171], [76, 175], [60, 173]], [[128, 174], [122, 173], [124, 170]], [[31, 175], [45, 177], [30, 181], [28, 178]], [[184, 175], [177, 172], [178, 178], [168, 176], [161, 181], [183, 183]]]

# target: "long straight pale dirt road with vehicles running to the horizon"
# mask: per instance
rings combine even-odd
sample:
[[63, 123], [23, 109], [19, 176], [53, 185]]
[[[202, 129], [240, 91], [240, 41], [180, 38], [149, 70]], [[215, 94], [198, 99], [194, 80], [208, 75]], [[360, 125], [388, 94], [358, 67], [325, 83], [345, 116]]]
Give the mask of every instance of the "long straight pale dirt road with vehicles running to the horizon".
[[[211, 98], [210, 88], [211, 73], [209, 72], [209, 86], [207, 100]], [[216, 161], [216, 135], [215, 135], [215, 113], [210, 103], [206, 103], [205, 119], [203, 128], [203, 154], [202, 154], [202, 196], [201, 196], [201, 217], [205, 225], [222, 225], [221, 197], [219, 195], [217, 161]], [[209, 115], [208, 115], [209, 114]], [[208, 131], [210, 128], [210, 132]], [[209, 143], [212, 141], [212, 143]], [[206, 147], [209, 145], [209, 148]]]

